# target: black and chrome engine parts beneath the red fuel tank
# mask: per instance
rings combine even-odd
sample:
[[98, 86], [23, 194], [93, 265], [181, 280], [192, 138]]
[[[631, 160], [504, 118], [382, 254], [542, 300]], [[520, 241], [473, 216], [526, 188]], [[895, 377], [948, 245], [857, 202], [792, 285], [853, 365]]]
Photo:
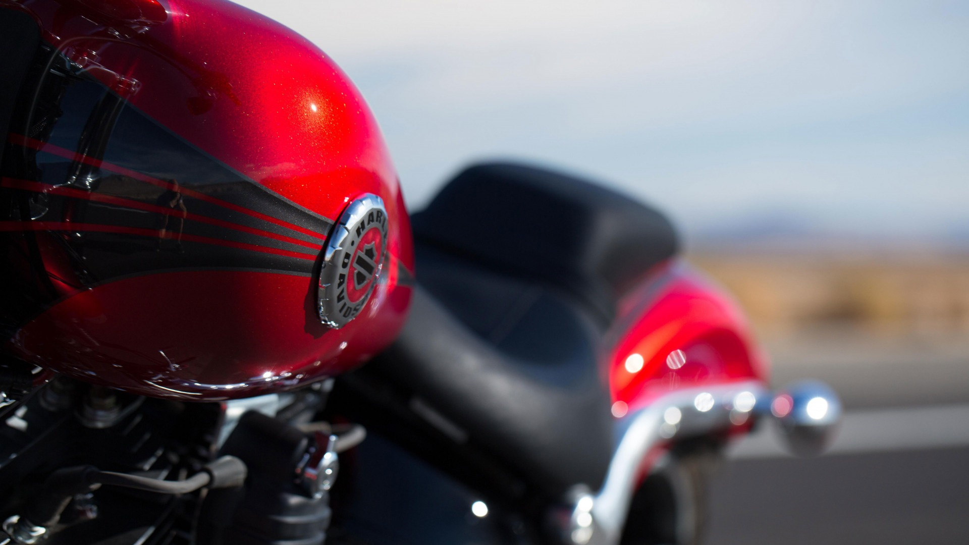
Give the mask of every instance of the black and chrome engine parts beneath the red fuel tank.
[[55, 376], [0, 408], [3, 529], [18, 544], [323, 543], [337, 450], [363, 436], [312, 422], [329, 384], [191, 403]]

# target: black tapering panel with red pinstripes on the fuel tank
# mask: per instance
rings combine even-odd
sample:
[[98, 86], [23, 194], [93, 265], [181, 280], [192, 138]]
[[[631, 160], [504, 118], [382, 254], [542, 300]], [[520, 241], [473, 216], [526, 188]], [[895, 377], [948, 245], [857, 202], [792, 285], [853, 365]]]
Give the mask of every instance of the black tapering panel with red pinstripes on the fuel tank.
[[38, 50], [24, 87], [31, 90], [11, 119], [0, 165], [0, 254], [11, 265], [0, 271], [7, 286], [0, 335], [120, 277], [312, 272], [327, 219], [290, 206], [131, 108], [126, 99], [141, 82], [95, 60], [117, 43], [76, 46]]

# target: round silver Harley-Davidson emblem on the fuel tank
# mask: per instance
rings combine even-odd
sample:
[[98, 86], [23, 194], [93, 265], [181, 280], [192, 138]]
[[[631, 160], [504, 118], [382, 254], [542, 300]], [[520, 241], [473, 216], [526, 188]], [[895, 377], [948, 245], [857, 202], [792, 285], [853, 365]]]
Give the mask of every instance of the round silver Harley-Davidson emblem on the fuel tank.
[[347, 206], [323, 249], [320, 320], [339, 329], [370, 299], [387, 252], [387, 209], [367, 193]]

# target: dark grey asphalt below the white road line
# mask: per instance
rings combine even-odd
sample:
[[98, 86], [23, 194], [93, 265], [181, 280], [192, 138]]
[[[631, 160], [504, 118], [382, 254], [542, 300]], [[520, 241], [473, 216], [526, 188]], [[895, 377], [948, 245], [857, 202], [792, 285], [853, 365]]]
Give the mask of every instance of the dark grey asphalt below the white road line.
[[969, 543], [969, 448], [735, 460], [708, 545]]

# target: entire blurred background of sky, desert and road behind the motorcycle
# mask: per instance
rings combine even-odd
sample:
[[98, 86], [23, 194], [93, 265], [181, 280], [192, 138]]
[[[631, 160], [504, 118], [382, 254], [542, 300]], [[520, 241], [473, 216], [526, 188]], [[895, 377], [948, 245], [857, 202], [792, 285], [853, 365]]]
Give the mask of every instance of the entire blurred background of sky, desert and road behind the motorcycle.
[[737, 445], [709, 544], [969, 543], [969, 2], [241, 3], [357, 83], [410, 208], [477, 159], [602, 180], [838, 390], [828, 456]]

